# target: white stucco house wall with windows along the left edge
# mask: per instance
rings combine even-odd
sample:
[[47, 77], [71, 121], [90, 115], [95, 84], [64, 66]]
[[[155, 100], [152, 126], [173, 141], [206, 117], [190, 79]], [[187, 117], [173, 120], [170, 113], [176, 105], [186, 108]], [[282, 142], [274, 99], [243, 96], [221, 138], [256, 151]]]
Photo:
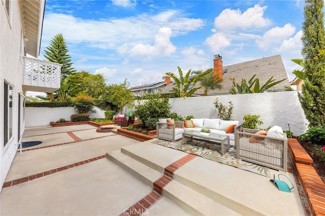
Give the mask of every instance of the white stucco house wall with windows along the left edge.
[[[10, 1], [11, 19], [9, 21], [4, 1], [0, 3], [0, 187], [16, 154], [18, 140], [18, 93], [22, 90], [22, 61], [20, 56], [21, 18], [19, 1]], [[4, 147], [4, 81], [13, 87], [13, 136]]]

